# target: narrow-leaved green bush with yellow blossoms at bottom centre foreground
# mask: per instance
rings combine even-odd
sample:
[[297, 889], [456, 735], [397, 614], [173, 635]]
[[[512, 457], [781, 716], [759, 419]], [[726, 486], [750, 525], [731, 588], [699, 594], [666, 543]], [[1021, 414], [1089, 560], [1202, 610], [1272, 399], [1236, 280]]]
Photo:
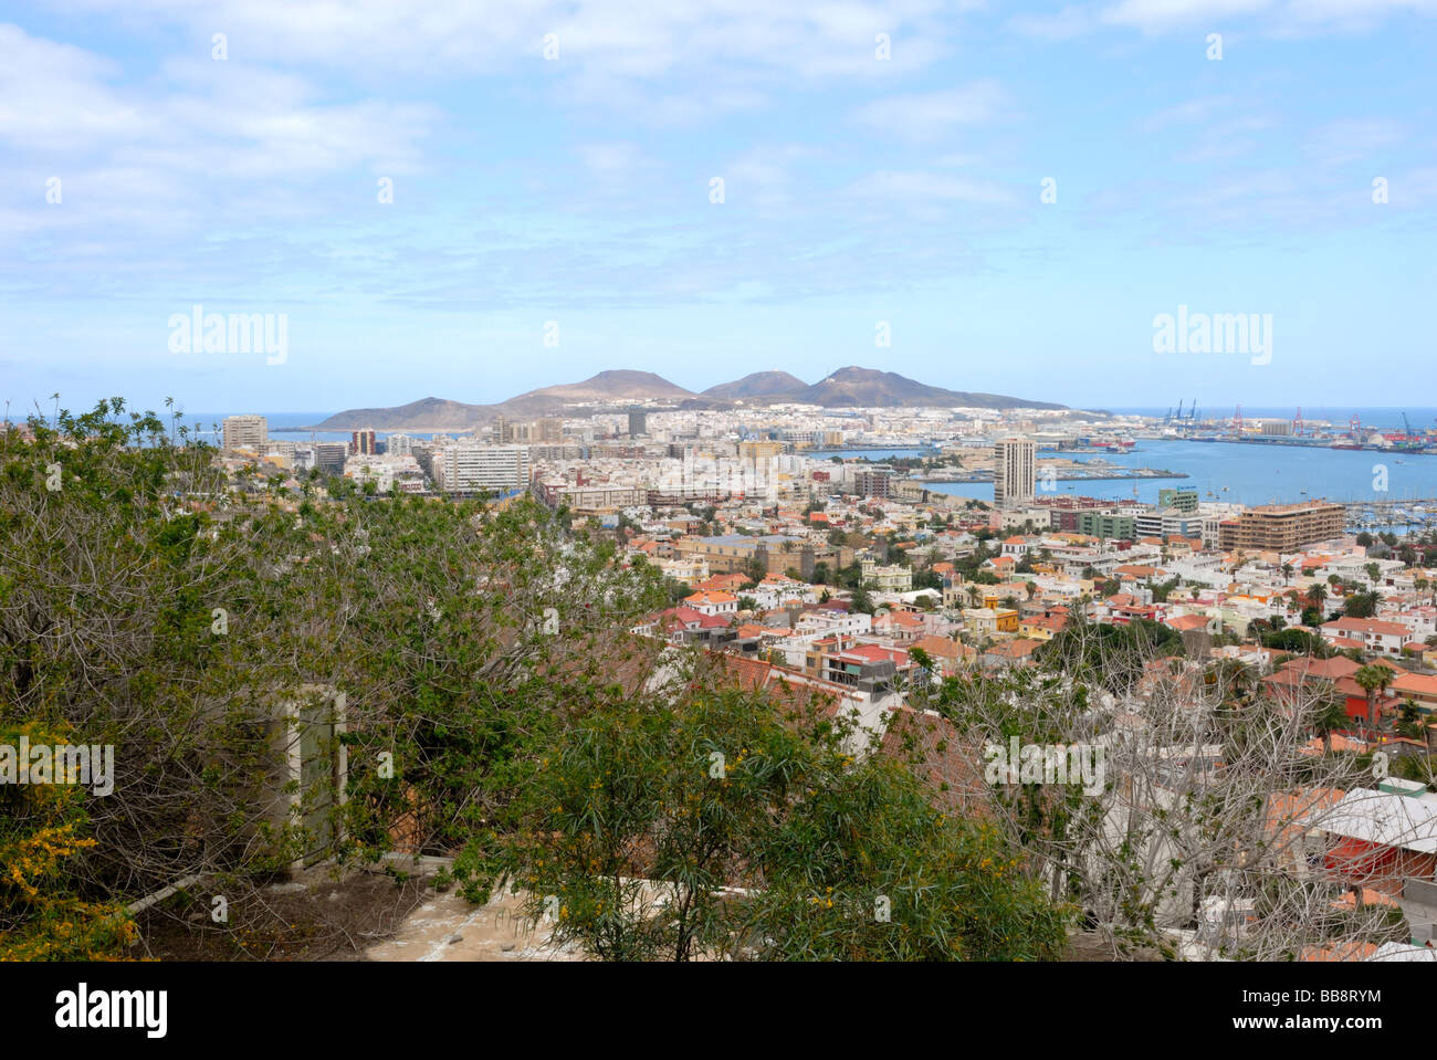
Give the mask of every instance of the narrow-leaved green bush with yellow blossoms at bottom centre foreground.
[[1058, 957], [1066, 911], [848, 735], [700, 672], [680, 701], [598, 704], [545, 757], [527, 827], [458, 868], [605, 959]]

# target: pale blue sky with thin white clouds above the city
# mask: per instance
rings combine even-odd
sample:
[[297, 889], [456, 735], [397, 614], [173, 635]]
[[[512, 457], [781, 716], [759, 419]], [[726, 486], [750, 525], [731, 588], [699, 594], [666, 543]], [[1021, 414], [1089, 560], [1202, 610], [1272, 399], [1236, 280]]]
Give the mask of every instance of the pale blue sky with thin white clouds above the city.
[[1437, 0], [0, 3], [0, 401], [1430, 405], [1434, 56]]

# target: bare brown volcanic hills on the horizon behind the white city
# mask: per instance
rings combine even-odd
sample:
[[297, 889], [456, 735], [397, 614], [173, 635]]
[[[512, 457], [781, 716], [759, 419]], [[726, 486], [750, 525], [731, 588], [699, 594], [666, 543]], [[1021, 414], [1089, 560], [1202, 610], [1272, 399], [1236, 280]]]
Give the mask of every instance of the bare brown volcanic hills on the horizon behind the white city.
[[[627, 369], [599, 372], [583, 382], [540, 386], [497, 405], [467, 405], [444, 398], [421, 398], [391, 408], [352, 408], [315, 424], [316, 431], [463, 431], [496, 417], [533, 418], [582, 414], [583, 409], [622, 402], [661, 402], [668, 408], [727, 409], [764, 405], [819, 405], [822, 408], [1040, 408], [1062, 409], [1049, 401], [973, 394], [908, 379], [872, 368], [841, 368], [816, 383], [787, 372], [753, 372], [733, 382], [696, 394], [654, 372]], [[651, 408], [651, 411], [655, 411]]]

